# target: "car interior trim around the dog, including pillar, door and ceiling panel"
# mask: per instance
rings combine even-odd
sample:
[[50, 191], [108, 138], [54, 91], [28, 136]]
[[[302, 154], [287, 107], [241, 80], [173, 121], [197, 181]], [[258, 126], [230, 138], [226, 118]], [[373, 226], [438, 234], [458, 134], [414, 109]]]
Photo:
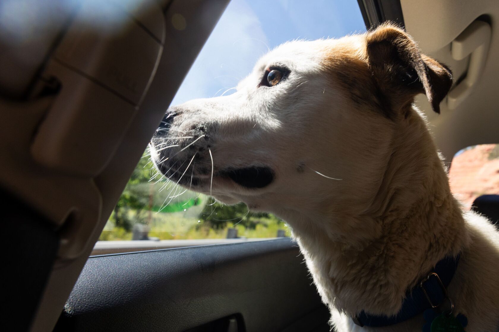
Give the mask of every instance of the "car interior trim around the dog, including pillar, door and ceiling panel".
[[[287, 237], [89, 257], [229, 2], [0, 2], [9, 331], [329, 331], [328, 309]], [[449, 165], [463, 148], [499, 143], [496, 0], [358, 6], [367, 29], [394, 21], [452, 68], [440, 114], [416, 98]], [[474, 209], [499, 220], [497, 195]]]

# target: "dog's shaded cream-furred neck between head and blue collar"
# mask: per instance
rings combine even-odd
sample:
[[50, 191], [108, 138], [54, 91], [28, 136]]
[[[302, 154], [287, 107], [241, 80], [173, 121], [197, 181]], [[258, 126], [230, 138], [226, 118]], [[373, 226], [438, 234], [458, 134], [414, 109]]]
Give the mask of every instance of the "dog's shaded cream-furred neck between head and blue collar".
[[466, 240], [460, 205], [416, 111], [395, 130], [383, 181], [358, 210], [287, 221], [324, 302], [349, 315], [394, 315], [406, 291]]

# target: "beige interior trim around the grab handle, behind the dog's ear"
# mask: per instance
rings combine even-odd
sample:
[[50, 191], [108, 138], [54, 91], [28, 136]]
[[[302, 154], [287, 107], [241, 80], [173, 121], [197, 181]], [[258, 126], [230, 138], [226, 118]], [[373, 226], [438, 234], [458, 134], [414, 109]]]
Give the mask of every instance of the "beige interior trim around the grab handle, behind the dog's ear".
[[490, 24], [492, 33], [483, 74], [473, 91], [454, 110], [447, 102], [440, 114], [431, 111], [424, 95], [416, 105], [425, 111], [431, 131], [447, 161], [460, 149], [475, 144], [499, 143], [499, 5], [497, 0], [401, 0], [407, 32], [419, 43], [425, 54], [450, 66], [455, 83], [464, 79], [469, 58], [456, 61], [451, 44], [475, 20]]

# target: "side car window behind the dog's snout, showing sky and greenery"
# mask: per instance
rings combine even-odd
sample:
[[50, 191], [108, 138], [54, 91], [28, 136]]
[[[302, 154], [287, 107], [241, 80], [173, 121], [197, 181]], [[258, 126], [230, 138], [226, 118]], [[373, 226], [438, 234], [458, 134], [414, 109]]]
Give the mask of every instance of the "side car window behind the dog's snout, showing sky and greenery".
[[[172, 105], [233, 93], [260, 56], [287, 40], [363, 31], [356, 0], [232, 0]], [[289, 236], [284, 221], [176, 186], [155, 169], [146, 150], [93, 254], [277, 236]]]

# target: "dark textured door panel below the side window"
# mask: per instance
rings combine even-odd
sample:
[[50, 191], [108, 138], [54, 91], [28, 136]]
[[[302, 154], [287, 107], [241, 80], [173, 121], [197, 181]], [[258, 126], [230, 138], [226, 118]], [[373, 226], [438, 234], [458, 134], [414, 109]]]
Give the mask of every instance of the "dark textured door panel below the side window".
[[180, 332], [234, 314], [248, 332], [329, 331], [302, 262], [288, 238], [93, 256], [55, 331]]

